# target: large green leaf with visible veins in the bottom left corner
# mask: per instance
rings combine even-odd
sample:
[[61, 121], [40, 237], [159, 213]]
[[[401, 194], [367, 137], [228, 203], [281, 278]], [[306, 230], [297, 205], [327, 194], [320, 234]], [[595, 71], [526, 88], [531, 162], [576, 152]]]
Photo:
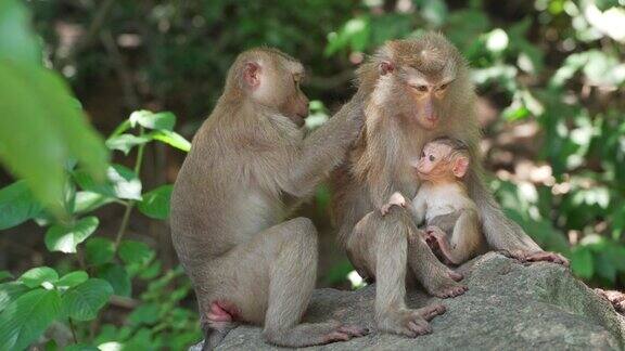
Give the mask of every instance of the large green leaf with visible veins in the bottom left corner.
[[22, 350], [35, 341], [60, 315], [59, 291], [35, 289], [0, 313], [0, 350]]

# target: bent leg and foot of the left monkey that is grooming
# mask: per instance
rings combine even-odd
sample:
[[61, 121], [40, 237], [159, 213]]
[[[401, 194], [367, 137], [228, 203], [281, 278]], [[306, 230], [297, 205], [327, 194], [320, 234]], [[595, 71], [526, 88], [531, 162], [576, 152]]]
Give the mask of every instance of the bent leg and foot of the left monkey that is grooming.
[[[298, 324], [310, 299], [317, 276], [317, 231], [306, 218], [296, 218], [258, 233], [219, 259], [218, 274], [212, 277], [220, 286], [203, 309], [215, 313], [215, 302], [243, 322], [263, 324], [265, 339], [281, 347], [301, 348], [348, 340], [367, 334], [366, 329], [344, 326], [336, 321]], [[215, 270], [215, 268], [214, 268]], [[233, 310], [234, 309], [234, 310]], [[228, 323], [228, 321], [226, 321]]]

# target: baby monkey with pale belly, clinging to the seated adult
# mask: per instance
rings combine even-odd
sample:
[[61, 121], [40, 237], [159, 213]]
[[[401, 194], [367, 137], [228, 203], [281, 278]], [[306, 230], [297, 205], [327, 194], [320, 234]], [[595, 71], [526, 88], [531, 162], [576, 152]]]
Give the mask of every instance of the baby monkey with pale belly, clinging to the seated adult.
[[[425, 220], [425, 242], [446, 264], [460, 264], [486, 251], [477, 207], [462, 182], [469, 159], [462, 142], [444, 136], [425, 144], [412, 165], [421, 187], [410, 210], [417, 224]], [[405, 207], [406, 199], [394, 193], [382, 214], [393, 205]]]

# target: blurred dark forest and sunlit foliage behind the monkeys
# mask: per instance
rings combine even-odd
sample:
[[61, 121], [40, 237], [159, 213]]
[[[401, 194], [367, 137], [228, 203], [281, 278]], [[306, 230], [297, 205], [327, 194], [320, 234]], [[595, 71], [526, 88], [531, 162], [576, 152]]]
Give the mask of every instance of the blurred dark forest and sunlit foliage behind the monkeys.
[[[43, 69], [65, 80], [94, 134], [102, 135], [97, 139], [107, 139], [111, 159], [119, 166], [116, 174], [126, 186], [133, 184], [130, 178], [140, 186], [137, 198], [122, 194], [118, 183], [114, 194], [106, 193], [72, 166], [73, 194], [79, 199], [99, 194], [69, 216], [73, 223], [87, 212], [98, 219], [84, 237], [74, 231], [74, 251], [52, 243], [61, 234], [49, 233], [54, 216], [46, 221], [40, 208], [29, 207], [29, 216], [4, 226], [0, 214], [0, 272], [7, 276], [40, 265], [60, 273], [80, 268], [113, 287], [106, 308], [90, 323], [54, 322], [40, 342], [177, 350], [199, 339], [193, 296], [170, 246], [166, 184], [175, 181], [184, 158], [184, 139], [191, 140], [221, 93], [229, 65], [256, 46], [279, 48], [307, 67], [304, 91], [312, 100], [307, 126], [315, 128], [350, 98], [354, 69], [377, 47], [442, 31], [472, 67], [489, 184], [506, 212], [543, 248], [569, 257], [574, 274], [588, 284], [625, 288], [624, 0], [24, 3], [20, 13], [33, 30], [20, 27], [25, 37], [10, 32], [15, 18], [10, 17], [0, 25], [0, 40], [36, 38]], [[0, 18], [3, 6], [9, 9], [0, 5]], [[144, 118], [131, 116], [140, 109], [171, 114], [156, 114], [154, 120], [165, 125], [154, 127], [142, 122], [153, 118], [146, 112]], [[12, 150], [0, 145], [3, 153]], [[76, 156], [84, 164], [89, 157]], [[7, 159], [1, 186], [25, 174]], [[152, 193], [141, 197], [141, 186]], [[361, 282], [334, 243], [330, 197], [328, 186], [319, 186], [297, 214], [312, 218], [321, 233], [319, 286], [352, 288]], [[157, 206], [151, 208], [148, 198]], [[122, 238], [142, 245], [145, 259], [125, 258]], [[89, 259], [106, 243], [114, 246], [109, 260]], [[127, 256], [137, 253], [132, 244], [127, 247]], [[0, 323], [0, 337], [1, 329]]]

